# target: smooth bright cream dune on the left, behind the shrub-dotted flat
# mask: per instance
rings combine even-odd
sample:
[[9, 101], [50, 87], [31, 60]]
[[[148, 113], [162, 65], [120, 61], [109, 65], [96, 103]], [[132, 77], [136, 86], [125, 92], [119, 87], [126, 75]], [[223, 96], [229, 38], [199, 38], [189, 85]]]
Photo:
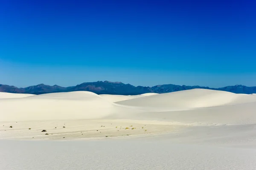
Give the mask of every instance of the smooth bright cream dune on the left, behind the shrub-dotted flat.
[[1, 121], [99, 119], [115, 113], [115, 105], [99, 95], [76, 91], [1, 99]]

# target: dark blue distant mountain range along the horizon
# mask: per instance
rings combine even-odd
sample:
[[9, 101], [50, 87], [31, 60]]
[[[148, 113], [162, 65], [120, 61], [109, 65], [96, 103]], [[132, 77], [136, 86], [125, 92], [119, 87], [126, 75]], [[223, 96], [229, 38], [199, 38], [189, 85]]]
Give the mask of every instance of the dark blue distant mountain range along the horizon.
[[1, 85], [0, 92], [8, 93], [22, 93], [22, 94], [46, 94], [56, 92], [69, 92], [69, 91], [91, 91], [96, 94], [117, 94], [117, 95], [137, 95], [144, 93], [169, 93], [173, 91], [183, 91], [194, 88], [204, 88], [219, 91], [229, 91], [236, 94], [256, 94], [256, 87], [247, 87], [244, 85], [227, 86], [224, 88], [209, 88], [201, 86], [186, 86], [186, 85], [156, 85], [153, 87], [133, 86], [124, 84], [122, 82], [84, 82], [80, 85], [71, 87], [61, 87], [58, 85], [33, 85], [26, 88], [17, 88], [10, 85]]

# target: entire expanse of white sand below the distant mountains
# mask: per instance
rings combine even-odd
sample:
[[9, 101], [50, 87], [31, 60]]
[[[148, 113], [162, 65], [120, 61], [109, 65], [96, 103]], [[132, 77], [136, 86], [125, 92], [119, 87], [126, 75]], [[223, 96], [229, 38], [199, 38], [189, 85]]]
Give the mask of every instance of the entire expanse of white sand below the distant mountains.
[[0, 93], [0, 170], [254, 170], [255, 132], [254, 94]]

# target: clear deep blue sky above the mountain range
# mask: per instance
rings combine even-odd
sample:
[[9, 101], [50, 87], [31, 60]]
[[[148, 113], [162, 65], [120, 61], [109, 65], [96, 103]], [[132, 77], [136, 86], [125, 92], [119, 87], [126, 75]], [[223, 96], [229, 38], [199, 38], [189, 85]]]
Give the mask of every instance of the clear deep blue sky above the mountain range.
[[1, 0], [0, 84], [256, 86], [255, 0]]

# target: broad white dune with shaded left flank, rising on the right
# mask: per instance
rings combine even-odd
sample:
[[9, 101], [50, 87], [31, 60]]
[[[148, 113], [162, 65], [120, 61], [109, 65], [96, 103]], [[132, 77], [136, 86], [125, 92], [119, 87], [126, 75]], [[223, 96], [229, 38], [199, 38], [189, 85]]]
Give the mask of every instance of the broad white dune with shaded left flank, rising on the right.
[[234, 94], [226, 91], [207, 89], [192, 89], [147, 96], [143, 99], [130, 99], [117, 103], [147, 108], [204, 108], [248, 102], [256, 102], [256, 95]]

